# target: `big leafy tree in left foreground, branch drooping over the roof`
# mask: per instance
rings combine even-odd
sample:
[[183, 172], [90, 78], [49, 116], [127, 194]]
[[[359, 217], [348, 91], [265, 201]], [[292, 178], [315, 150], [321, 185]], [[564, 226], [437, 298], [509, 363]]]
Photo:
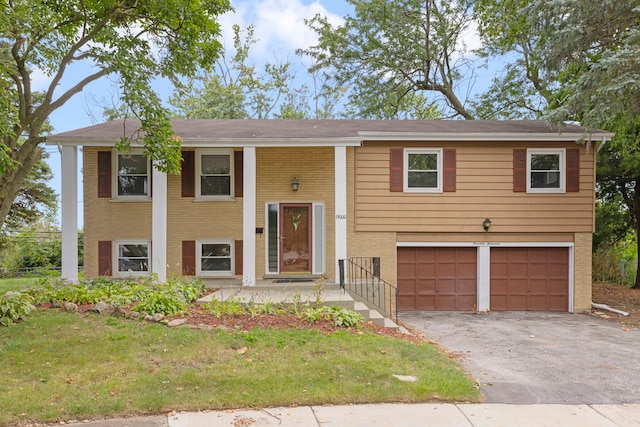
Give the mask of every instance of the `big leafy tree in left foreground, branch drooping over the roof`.
[[[142, 123], [121, 146], [139, 137], [157, 168], [179, 170], [179, 139], [151, 82], [215, 61], [215, 18], [230, 9], [228, 0], [10, 0], [0, 9], [0, 222], [40, 159], [47, 118], [107, 75]], [[79, 62], [92, 67], [74, 81], [68, 70]], [[41, 97], [33, 89], [37, 72], [50, 78]]]

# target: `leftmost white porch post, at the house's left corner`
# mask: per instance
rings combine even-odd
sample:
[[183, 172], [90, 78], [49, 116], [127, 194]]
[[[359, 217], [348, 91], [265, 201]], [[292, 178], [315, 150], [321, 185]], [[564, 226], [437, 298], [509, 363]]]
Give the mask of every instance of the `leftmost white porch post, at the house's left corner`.
[[62, 278], [78, 282], [78, 147], [60, 148], [62, 165]]

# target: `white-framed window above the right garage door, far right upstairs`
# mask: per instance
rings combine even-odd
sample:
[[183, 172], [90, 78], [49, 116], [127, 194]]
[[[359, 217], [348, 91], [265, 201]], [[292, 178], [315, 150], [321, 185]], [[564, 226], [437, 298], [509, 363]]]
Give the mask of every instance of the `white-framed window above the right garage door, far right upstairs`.
[[564, 193], [565, 151], [529, 149], [527, 151], [527, 191]]

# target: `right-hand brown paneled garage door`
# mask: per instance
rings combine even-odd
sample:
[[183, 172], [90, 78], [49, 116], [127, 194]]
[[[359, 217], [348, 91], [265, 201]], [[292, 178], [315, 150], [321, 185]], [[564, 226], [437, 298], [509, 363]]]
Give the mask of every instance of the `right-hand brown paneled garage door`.
[[568, 311], [568, 248], [491, 248], [492, 311]]

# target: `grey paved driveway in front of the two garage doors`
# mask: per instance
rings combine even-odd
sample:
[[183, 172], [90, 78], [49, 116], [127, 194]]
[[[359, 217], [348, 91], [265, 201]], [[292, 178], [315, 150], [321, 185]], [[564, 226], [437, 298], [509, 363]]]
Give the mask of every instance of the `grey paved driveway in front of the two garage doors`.
[[640, 330], [584, 314], [401, 312], [459, 356], [487, 403], [640, 403]]

